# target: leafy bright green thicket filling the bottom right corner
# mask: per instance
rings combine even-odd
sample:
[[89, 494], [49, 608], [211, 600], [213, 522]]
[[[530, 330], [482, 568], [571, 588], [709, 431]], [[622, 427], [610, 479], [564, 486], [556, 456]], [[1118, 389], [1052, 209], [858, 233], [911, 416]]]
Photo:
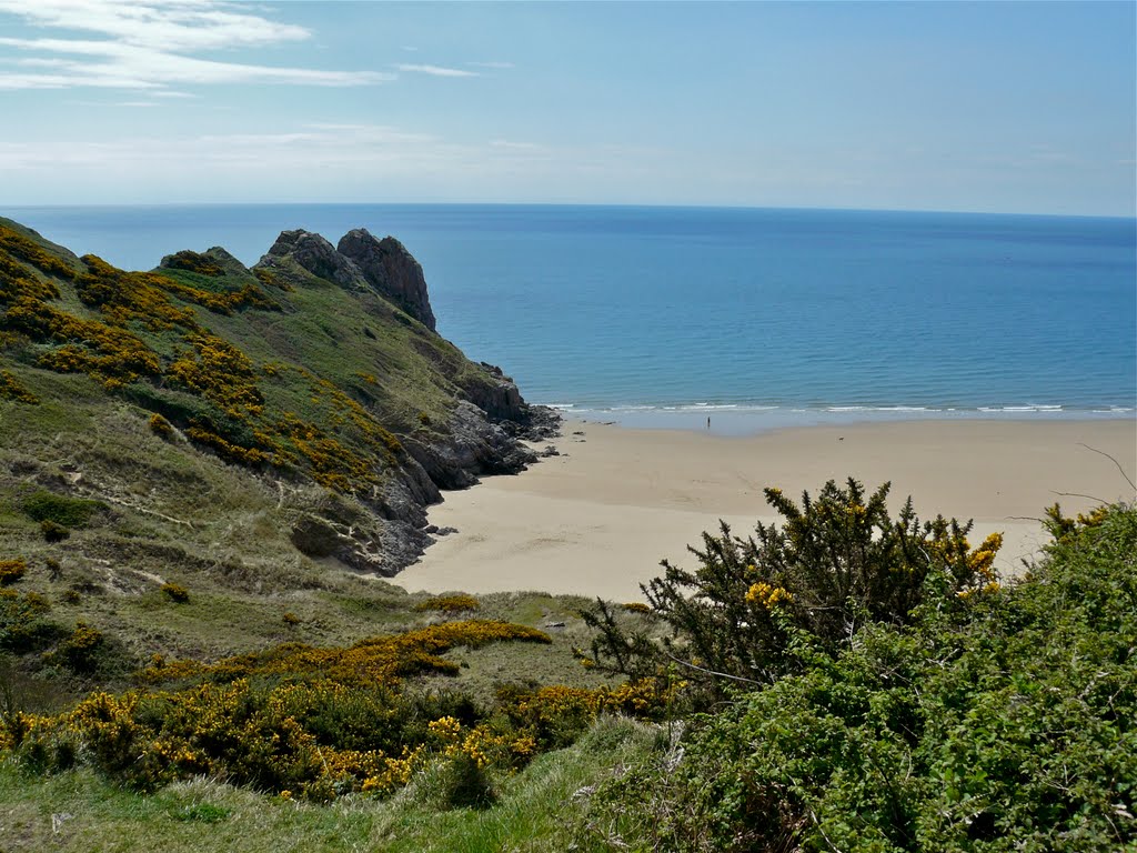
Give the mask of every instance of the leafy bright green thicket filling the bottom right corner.
[[1076, 523], [962, 615], [948, 603], [865, 623], [836, 657], [787, 623], [797, 672], [601, 786], [584, 835], [669, 851], [1137, 844], [1137, 512]]

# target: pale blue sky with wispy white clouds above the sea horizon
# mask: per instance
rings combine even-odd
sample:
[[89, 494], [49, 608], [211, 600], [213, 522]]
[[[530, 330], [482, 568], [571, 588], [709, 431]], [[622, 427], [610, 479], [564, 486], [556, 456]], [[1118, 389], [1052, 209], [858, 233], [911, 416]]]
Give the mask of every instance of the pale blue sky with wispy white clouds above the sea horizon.
[[0, 0], [0, 207], [1134, 216], [1135, 2]]

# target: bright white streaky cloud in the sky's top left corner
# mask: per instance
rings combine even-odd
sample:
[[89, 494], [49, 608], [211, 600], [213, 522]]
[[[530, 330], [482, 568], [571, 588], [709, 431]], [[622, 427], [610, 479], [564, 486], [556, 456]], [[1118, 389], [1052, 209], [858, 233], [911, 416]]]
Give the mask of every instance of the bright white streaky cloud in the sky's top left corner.
[[[0, 89], [101, 88], [152, 91], [171, 84], [289, 83], [349, 86], [391, 80], [390, 74], [275, 67], [194, 56], [308, 39], [300, 26], [281, 24], [222, 0], [0, 0], [0, 16], [60, 30], [67, 38], [0, 38], [18, 71], [0, 71]], [[238, 10], [240, 9], [240, 10]], [[70, 33], [82, 33], [76, 38]]]

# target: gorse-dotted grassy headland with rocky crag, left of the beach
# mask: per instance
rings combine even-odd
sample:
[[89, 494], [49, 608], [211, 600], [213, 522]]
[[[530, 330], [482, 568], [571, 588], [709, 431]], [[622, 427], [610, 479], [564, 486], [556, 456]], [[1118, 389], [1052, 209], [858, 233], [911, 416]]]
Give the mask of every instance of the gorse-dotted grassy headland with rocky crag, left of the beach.
[[217, 552], [255, 516], [297, 557], [391, 575], [441, 489], [523, 470], [521, 439], [556, 430], [438, 333], [418, 262], [365, 229], [283, 231], [252, 267], [214, 247], [128, 272], [0, 220], [0, 336], [6, 532], [40, 536], [28, 495], [89, 502], [81, 563]]

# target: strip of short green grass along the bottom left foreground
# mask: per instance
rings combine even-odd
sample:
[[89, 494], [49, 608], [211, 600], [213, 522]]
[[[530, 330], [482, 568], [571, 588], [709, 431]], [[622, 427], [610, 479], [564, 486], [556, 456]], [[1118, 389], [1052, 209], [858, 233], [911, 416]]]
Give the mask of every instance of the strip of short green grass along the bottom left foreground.
[[574, 795], [664, 736], [599, 720], [572, 747], [496, 779], [497, 802], [479, 811], [446, 809], [429, 771], [389, 801], [354, 796], [322, 806], [206, 779], [144, 796], [89, 770], [44, 779], [0, 763], [0, 839], [6, 853], [559, 853], [573, 842]]

